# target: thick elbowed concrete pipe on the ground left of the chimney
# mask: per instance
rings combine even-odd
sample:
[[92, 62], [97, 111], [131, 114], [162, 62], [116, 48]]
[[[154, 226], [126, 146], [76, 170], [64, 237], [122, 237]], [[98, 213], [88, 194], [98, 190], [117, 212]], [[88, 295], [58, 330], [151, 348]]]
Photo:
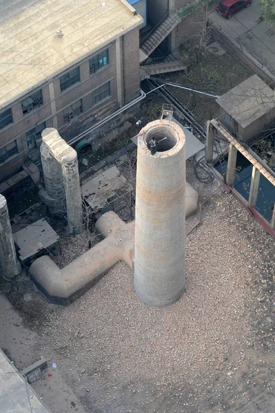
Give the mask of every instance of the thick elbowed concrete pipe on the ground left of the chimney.
[[49, 301], [70, 304], [121, 260], [132, 268], [134, 221], [125, 224], [116, 213], [110, 211], [96, 221], [96, 231], [105, 240], [68, 266], [59, 269], [48, 255], [39, 257], [30, 266], [30, 276]]

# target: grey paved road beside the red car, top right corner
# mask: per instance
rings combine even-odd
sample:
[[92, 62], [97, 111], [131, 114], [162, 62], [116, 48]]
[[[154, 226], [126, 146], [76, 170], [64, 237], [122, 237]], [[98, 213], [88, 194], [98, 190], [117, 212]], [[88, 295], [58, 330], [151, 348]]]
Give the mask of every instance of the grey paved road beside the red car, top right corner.
[[263, 21], [259, 0], [252, 0], [249, 8], [237, 12], [229, 20], [214, 11], [210, 14], [210, 21], [243, 45], [275, 76], [275, 28]]

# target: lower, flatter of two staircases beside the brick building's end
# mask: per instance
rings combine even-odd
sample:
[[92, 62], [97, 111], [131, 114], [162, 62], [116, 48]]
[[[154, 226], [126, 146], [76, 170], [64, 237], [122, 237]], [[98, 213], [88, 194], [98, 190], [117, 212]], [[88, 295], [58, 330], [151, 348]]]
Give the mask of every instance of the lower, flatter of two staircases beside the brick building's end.
[[154, 74], [176, 72], [178, 70], [187, 71], [187, 64], [172, 53], [163, 58], [149, 58], [140, 66], [141, 81], [150, 78]]

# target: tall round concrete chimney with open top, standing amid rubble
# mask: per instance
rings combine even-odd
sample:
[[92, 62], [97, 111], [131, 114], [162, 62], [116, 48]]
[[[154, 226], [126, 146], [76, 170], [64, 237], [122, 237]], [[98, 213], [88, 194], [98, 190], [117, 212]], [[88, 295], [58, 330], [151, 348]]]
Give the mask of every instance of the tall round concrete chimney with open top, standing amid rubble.
[[[166, 138], [154, 156], [151, 138]], [[148, 123], [139, 134], [134, 288], [144, 304], [157, 307], [185, 288], [185, 135], [169, 120]]]

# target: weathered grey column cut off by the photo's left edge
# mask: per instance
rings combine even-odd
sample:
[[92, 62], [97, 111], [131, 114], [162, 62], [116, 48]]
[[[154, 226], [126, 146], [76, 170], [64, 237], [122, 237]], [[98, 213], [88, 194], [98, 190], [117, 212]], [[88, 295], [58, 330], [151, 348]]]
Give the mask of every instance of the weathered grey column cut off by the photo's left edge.
[[0, 274], [3, 279], [12, 281], [20, 273], [21, 265], [15, 252], [7, 201], [0, 194]]

